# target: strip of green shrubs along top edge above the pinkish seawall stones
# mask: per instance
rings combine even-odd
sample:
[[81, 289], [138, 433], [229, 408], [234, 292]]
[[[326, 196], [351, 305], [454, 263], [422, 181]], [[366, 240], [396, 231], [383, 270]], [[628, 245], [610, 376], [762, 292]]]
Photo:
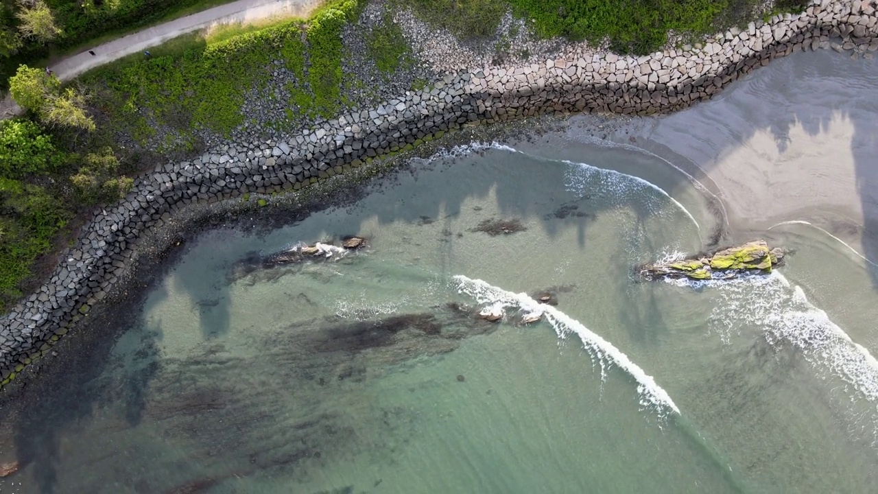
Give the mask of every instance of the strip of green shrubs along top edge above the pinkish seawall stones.
[[[544, 37], [601, 43], [620, 53], [648, 54], [667, 42], [667, 33], [714, 34], [751, 20], [759, 0], [396, 0], [411, 4], [432, 25], [464, 38], [491, 36], [512, 11]], [[781, 0], [781, 11], [802, 11], [806, 0]]]

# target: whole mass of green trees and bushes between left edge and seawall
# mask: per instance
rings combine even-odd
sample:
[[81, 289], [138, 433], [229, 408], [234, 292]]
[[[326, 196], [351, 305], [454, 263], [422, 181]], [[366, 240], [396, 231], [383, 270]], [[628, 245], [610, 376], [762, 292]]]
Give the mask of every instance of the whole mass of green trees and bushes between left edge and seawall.
[[25, 291], [35, 263], [57, 248], [76, 213], [131, 188], [112, 149], [81, 156], [76, 140], [83, 149], [95, 145], [78, 128], [0, 120], [0, 312]]

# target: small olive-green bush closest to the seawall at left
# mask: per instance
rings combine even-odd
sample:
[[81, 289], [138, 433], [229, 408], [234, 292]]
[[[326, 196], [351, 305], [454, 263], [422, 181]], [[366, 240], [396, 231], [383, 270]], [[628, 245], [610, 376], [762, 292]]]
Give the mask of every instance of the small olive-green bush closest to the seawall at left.
[[125, 176], [117, 177], [118, 172], [119, 160], [113, 156], [112, 149], [104, 148], [98, 153], [86, 155], [83, 166], [70, 177], [70, 182], [85, 202], [119, 200], [131, 190], [134, 181]]

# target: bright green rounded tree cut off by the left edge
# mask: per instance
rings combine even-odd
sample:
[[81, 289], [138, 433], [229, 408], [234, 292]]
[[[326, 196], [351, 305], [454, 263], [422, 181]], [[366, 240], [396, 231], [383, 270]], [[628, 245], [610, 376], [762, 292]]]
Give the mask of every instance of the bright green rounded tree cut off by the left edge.
[[52, 138], [31, 120], [0, 120], [0, 176], [51, 171], [60, 158]]

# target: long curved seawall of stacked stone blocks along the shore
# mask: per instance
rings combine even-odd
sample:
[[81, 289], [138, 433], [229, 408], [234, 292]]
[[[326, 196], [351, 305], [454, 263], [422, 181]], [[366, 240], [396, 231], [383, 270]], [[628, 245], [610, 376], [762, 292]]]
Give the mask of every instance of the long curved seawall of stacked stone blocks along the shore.
[[[673, 112], [798, 50], [878, 51], [878, 0], [818, 0], [802, 15], [752, 23], [702, 48], [643, 57], [580, 53], [515, 68], [462, 70], [370, 111], [348, 113], [285, 142], [224, 145], [144, 173], [119, 205], [99, 211], [51, 279], [0, 319], [0, 378], [7, 383], [104, 298], [126, 272], [138, 238], [199, 201], [298, 190], [369, 156], [417, 145], [463, 125], [544, 112]], [[841, 43], [831, 40], [840, 38]]]

